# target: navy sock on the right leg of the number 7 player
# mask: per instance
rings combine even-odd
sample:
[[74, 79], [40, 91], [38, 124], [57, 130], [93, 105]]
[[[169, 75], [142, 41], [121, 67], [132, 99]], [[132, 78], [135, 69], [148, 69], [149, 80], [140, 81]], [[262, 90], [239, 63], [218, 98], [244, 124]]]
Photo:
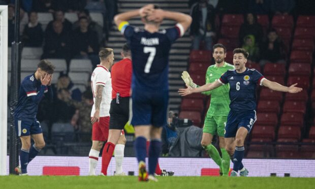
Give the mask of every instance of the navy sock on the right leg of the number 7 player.
[[154, 175], [157, 160], [162, 150], [161, 139], [152, 139], [149, 147], [149, 175]]

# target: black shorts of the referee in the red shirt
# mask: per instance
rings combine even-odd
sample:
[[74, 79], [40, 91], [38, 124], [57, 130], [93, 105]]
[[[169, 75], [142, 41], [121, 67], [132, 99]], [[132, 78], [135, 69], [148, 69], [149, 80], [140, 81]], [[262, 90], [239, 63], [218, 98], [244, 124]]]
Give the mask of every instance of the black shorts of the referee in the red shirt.
[[110, 103], [110, 120], [109, 129], [122, 130], [124, 125], [129, 120], [129, 97], [120, 97], [119, 104], [116, 104], [116, 99]]

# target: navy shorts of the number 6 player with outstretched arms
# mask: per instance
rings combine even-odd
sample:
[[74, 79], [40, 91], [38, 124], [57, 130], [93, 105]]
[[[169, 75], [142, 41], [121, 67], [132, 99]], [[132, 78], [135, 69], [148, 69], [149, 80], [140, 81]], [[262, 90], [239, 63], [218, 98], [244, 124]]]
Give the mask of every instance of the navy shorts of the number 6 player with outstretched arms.
[[249, 133], [256, 120], [257, 117], [255, 110], [237, 112], [230, 110], [224, 137], [235, 137], [236, 132], [240, 127], [246, 128]]

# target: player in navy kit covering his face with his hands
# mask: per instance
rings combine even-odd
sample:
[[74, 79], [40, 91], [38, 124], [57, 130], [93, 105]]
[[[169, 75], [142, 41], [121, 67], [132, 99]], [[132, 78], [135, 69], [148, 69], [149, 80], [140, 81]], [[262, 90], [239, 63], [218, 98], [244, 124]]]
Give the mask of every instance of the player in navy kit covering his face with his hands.
[[[18, 103], [14, 112], [15, 130], [20, 137], [20, 166], [15, 172], [27, 175], [27, 165], [45, 146], [43, 131], [40, 122], [36, 119], [38, 104], [48, 93], [52, 100], [51, 80], [54, 66], [47, 60], [41, 60], [34, 74], [26, 76], [20, 86]], [[34, 145], [30, 146], [30, 138]]]

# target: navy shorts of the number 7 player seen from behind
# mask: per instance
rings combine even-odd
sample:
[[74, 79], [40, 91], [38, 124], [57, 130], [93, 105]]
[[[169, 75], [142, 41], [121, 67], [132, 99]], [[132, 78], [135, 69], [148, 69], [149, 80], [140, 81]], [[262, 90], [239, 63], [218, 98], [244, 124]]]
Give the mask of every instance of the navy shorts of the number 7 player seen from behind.
[[167, 124], [167, 108], [169, 91], [132, 91], [132, 120], [131, 124], [153, 125], [163, 127]]

